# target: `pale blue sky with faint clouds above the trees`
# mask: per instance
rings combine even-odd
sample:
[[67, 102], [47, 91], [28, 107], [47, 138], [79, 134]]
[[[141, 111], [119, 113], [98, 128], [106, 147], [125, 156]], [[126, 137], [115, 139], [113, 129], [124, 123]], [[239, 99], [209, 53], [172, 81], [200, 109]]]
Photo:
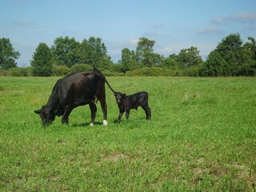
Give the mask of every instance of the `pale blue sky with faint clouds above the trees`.
[[38, 44], [60, 36], [102, 38], [117, 62], [141, 37], [164, 56], [196, 46], [206, 58], [231, 33], [256, 38], [255, 0], [0, 0], [0, 38], [20, 52], [18, 66], [30, 66]]

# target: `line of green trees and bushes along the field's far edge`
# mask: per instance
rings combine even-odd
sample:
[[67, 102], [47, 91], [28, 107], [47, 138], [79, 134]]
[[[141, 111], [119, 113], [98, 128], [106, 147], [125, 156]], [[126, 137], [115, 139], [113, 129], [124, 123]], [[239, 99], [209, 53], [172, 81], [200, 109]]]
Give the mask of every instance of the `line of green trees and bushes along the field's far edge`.
[[[121, 59], [114, 63], [101, 38], [90, 37], [78, 42], [75, 38], [59, 37], [54, 45], [39, 43], [30, 60], [34, 76], [62, 75], [67, 72], [98, 68], [118, 74], [166, 76], [255, 76], [256, 44], [248, 37], [243, 42], [240, 34], [229, 34], [210, 52], [206, 61], [195, 46], [182, 49], [178, 54], [164, 57], [154, 52], [154, 40], [140, 38], [135, 50], [123, 48]], [[10, 39], [0, 39], [0, 69], [17, 67], [20, 56]], [[158, 71], [158, 73], [157, 73]], [[160, 71], [160, 72], [159, 72]]]

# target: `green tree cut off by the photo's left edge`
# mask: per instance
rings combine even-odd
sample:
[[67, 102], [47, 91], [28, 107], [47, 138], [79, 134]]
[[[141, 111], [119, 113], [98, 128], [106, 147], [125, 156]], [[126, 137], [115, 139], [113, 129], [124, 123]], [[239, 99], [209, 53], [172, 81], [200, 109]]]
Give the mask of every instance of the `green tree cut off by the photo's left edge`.
[[0, 69], [9, 69], [17, 66], [15, 62], [20, 53], [14, 50], [9, 38], [0, 38]]

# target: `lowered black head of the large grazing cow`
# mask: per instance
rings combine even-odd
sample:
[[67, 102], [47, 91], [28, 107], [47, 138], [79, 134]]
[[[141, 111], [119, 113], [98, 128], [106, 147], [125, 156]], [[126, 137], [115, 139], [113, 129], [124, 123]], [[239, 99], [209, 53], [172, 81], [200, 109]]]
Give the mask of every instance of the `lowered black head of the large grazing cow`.
[[49, 126], [55, 119], [54, 110], [50, 109], [48, 106], [42, 106], [41, 110], [35, 110], [34, 113], [39, 114], [42, 118], [42, 125]]

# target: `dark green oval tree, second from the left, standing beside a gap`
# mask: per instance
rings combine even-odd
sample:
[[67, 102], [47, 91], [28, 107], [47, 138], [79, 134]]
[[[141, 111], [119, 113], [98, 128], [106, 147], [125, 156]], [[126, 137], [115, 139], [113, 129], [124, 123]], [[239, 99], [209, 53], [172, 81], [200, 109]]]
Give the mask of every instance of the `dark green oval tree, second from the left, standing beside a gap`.
[[30, 61], [34, 76], [50, 76], [53, 68], [53, 55], [46, 43], [39, 43]]

